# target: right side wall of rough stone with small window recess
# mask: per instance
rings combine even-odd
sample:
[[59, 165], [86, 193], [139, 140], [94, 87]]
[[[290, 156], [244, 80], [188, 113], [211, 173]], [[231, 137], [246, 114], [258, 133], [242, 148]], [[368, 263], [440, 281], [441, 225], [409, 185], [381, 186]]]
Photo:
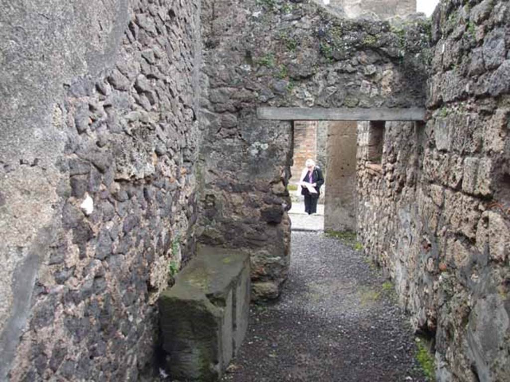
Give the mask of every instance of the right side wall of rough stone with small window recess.
[[446, 1], [432, 19], [430, 118], [387, 128], [380, 173], [359, 161], [360, 236], [435, 336], [439, 380], [505, 380], [510, 5]]

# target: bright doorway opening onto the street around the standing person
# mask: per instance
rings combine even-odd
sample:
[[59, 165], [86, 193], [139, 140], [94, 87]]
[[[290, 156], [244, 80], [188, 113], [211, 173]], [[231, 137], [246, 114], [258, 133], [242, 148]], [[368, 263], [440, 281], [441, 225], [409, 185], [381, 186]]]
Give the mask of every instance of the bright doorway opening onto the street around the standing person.
[[[355, 232], [357, 129], [355, 121], [294, 121], [289, 181], [293, 230]], [[312, 215], [305, 213], [298, 187], [307, 159], [316, 162], [325, 179]]]

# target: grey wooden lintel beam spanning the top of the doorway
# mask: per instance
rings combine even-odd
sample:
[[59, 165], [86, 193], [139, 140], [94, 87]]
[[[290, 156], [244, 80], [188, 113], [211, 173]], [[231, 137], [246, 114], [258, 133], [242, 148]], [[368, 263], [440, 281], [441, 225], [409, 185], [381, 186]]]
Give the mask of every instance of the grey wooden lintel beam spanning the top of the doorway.
[[280, 121], [424, 121], [425, 108], [258, 107], [257, 117]]

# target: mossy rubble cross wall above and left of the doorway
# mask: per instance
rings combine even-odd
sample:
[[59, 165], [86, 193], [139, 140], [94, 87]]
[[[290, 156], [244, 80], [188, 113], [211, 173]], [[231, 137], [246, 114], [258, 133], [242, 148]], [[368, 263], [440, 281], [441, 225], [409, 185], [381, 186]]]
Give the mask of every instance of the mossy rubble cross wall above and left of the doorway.
[[422, 106], [429, 29], [339, 19], [311, 1], [202, 9], [199, 240], [244, 248], [254, 295], [274, 297], [289, 262], [292, 129], [258, 120], [257, 106]]

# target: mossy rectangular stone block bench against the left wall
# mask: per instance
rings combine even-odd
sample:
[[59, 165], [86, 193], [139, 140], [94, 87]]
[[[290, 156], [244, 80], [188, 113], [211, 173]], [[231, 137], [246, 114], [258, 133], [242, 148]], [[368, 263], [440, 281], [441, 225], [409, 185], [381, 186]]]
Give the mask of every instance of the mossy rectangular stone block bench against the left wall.
[[218, 380], [246, 334], [249, 301], [249, 256], [199, 247], [159, 298], [165, 371], [180, 380]]

